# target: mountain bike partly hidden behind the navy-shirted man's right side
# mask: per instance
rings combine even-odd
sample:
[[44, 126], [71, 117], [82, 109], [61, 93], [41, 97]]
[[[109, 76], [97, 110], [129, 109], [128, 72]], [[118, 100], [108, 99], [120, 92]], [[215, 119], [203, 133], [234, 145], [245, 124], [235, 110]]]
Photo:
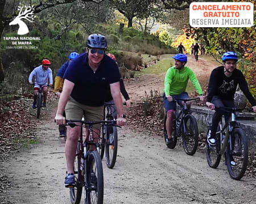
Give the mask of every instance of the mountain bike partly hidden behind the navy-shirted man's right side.
[[[104, 104], [104, 120], [114, 120], [114, 117], [112, 116], [112, 112], [115, 111], [113, 105], [114, 104], [112, 103]], [[108, 168], [113, 168], [115, 165], [115, 161], [117, 160], [117, 147], [117, 127], [109, 124], [102, 124], [100, 135], [100, 155], [101, 159], [103, 159], [105, 151], [106, 165]]]

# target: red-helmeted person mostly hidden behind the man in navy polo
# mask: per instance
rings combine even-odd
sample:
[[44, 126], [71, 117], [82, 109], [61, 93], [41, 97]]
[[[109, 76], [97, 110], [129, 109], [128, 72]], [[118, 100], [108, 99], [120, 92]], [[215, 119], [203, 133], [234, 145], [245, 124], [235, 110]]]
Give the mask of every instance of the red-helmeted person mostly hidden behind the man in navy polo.
[[[115, 60], [114, 54], [107, 53], [106, 55], [111, 57], [112, 59], [114, 59], [115, 62], [117, 62]], [[120, 91], [121, 91], [121, 94], [123, 95], [123, 97], [125, 97], [127, 107], [130, 108], [131, 107], [131, 100], [130, 100], [130, 97], [129, 97], [126, 89], [125, 89], [125, 84], [123, 83], [123, 79], [122, 79], [121, 75], [120, 75]], [[112, 103], [112, 104], [114, 103], [113, 97], [111, 95], [110, 87], [106, 91], [105, 102], [106, 103]], [[114, 118], [117, 117], [117, 112], [115, 111], [115, 106], [112, 109], [112, 116]]]

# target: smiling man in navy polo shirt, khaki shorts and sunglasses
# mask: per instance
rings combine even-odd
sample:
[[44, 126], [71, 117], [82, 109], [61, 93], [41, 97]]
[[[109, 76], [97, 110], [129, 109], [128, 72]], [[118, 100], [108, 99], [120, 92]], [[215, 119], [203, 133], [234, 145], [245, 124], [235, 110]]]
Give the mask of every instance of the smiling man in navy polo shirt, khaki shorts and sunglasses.
[[[86, 46], [87, 52], [73, 59], [64, 74], [63, 91], [60, 95], [55, 120], [57, 124], [65, 124], [64, 108], [68, 120], [81, 120], [84, 114], [86, 121], [102, 120], [106, 88], [110, 85], [117, 107], [117, 125], [123, 126], [126, 124], [126, 119], [120, 94], [119, 71], [113, 59], [105, 54], [106, 38], [100, 34], [92, 34], [88, 37]], [[77, 125], [81, 124], [77, 123]], [[99, 134], [100, 124], [94, 127], [95, 138]], [[68, 175], [64, 182], [66, 187], [75, 185], [73, 164], [79, 135], [79, 126], [75, 128], [68, 126], [68, 138], [65, 144], [68, 168]]]

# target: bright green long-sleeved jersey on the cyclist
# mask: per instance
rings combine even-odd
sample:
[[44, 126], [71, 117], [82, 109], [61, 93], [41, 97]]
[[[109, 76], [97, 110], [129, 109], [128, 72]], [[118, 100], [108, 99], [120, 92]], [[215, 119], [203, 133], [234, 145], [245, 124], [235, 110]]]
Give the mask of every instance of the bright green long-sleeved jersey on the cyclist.
[[191, 80], [197, 93], [203, 95], [204, 92], [200, 83], [189, 67], [184, 66], [181, 70], [178, 70], [173, 66], [167, 70], [166, 78], [164, 79], [164, 93], [166, 96], [178, 95], [184, 92], [187, 88], [188, 79]]

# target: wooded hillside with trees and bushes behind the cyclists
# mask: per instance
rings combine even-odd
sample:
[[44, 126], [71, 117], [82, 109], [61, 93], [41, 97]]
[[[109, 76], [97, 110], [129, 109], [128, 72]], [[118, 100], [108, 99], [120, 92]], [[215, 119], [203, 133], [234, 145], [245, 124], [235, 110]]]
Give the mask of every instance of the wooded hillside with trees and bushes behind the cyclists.
[[[85, 52], [90, 33], [107, 37], [107, 52], [115, 54], [126, 71], [134, 69], [125, 63], [127, 58], [134, 63], [141, 61], [142, 65], [138, 54], [175, 54], [180, 42], [186, 50], [199, 42], [220, 62], [224, 52], [236, 52], [240, 57], [238, 68], [246, 75], [255, 96], [255, 1], [243, 1], [254, 5], [254, 26], [249, 28], [192, 28], [191, 2], [195, 1], [0, 0], [0, 97], [31, 92], [28, 75], [44, 58], [52, 62], [54, 77], [70, 52]], [[3, 37], [19, 37], [19, 25], [9, 25], [18, 15], [18, 6], [35, 8], [34, 22], [26, 20], [30, 32], [25, 36], [40, 37], [32, 41], [37, 49], [7, 49], [10, 41]], [[124, 25], [122, 30], [120, 24]]]

